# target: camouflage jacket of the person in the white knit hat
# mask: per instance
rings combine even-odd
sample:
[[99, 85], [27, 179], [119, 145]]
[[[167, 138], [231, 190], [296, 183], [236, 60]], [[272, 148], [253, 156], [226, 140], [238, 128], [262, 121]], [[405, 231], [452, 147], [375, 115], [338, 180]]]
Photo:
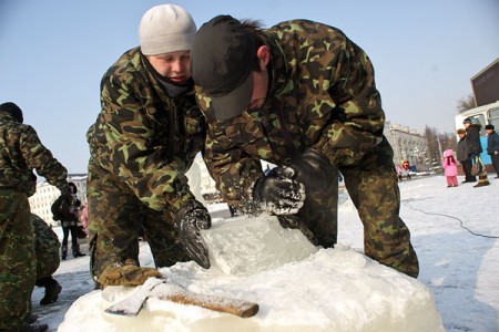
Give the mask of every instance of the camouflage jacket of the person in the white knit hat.
[[193, 198], [184, 173], [204, 146], [206, 124], [194, 90], [170, 97], [139, 48], [101, 82], [102, 111], [86, 138], [90, 163], [119, 176], [156, 210]]

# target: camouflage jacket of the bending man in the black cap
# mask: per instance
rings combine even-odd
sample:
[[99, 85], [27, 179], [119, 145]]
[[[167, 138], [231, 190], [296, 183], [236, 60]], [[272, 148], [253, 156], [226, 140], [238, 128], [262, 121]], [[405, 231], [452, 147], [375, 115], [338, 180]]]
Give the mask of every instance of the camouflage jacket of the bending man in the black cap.
[[261, 176], [258, 159], [287, 165], [316, 147], [336, 166], [357, 163], [383, 138], [385, 114], [366, 53], [342, 31], [306, 20], [262, 31], [271, 50], [272, 82], [265, 105], [216, 121], [208, 118], [205, 162], [231, 200], [247, 199]]

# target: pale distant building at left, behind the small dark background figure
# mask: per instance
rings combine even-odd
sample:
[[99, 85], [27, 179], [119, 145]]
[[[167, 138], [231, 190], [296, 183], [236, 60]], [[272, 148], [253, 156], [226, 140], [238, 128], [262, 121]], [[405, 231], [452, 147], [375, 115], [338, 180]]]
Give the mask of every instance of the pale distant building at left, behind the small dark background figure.
[[[70, 174], [68, 181], [74, 183], [78, 188], [78, 198], [82, 205], [86, 201], [86, 174]], [[61, 191], [47, 181], [37, 184], [37, 193], [29, 198], [31, 212], [40, 216], [45, 222], [52, 226], [60, 226], [60, 221], [52, 219], [52, 204], [61, 195]]]

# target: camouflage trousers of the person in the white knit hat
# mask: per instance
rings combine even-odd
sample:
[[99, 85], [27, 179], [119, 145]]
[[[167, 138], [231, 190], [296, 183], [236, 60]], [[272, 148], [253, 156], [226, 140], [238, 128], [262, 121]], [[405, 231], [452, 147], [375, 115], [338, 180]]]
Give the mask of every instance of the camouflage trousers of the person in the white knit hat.
[[190, 260], [177, 239], [172, 215], [149, 208], [120, 177], [90, 166], [86, 195], [91, 274], [95, 280], [106, 268], [129, 259], [140, 266], [141, 228], [156, 267]]

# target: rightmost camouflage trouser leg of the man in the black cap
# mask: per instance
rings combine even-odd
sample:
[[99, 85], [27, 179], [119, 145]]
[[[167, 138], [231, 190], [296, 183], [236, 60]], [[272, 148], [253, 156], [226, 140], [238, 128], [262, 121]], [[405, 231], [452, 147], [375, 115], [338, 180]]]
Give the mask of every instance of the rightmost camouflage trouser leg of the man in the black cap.
[[393, 160], [393, 149], [384, 139], [356, 166], [340, 170], [364, 226], [366, 256], [416, 278], [419, 263], [409, 229], [399, 217], [400, 191]]

